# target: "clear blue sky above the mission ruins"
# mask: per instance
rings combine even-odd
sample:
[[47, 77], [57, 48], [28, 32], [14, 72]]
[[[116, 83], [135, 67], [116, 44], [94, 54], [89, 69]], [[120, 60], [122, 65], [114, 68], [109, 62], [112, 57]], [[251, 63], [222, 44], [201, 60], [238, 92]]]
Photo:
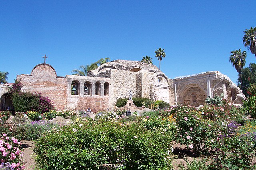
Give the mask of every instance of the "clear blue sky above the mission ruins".
[[161, 70], [185, 76], [219, 70], [236, 83], [230, 51], [246, 50], [243, 31], [256, 26], [256, 0], [2, 0], [0, 71], [30, 74], [48, 59], [58, 76], [109, 57], [140, 61], [165, 49]]

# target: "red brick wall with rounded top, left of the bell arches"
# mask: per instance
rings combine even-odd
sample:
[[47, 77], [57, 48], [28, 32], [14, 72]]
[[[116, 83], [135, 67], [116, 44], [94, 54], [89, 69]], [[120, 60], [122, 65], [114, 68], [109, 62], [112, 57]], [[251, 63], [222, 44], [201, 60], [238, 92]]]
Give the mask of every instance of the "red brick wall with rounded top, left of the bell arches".
[[22, 91], [41, 93], [54, 102], [57, 109], [66, 107], [67, 80], [56, 76], [56, 72], [49, 64], [38, 64], [31, 74], [17, 75], [21, 80]]

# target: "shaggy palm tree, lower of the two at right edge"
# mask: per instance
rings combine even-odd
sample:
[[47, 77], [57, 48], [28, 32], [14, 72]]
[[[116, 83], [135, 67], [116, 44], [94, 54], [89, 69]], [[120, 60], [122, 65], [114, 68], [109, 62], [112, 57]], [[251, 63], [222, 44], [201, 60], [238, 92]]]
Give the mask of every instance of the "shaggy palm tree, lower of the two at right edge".
[[246, 51], [241, 52], [241, 49], [230, 52], [230, 63], [236, 68], [236, 71], [241, 75], [241, 70], [245, 65]]

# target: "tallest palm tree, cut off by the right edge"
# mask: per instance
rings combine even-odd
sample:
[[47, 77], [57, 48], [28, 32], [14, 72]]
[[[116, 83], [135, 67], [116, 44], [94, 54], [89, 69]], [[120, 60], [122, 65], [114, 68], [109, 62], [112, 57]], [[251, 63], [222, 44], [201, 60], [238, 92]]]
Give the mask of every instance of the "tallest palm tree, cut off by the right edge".
[[252, 54], [256, 57], [256, 27], [245, 29], [243, 37], [244, 46], [249, 48]]

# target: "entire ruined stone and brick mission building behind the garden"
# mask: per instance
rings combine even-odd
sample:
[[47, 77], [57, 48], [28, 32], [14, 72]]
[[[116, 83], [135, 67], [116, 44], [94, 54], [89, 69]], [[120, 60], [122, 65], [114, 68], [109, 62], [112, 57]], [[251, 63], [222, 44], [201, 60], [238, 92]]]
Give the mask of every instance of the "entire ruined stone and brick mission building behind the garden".
[[57, 109], [112, 109], [117, 99], [128, 98], [128, 90], [133, 97], [164, 100], [172, 105], [199, 106], [206, 97], [221, 93], [233, 104], [242, 104], [245, 98], [230, 78], [218, 71], [169, 79], [155, 65], [140, 61], [115, 60], [89, 71], [88, 76], [65, 77], [57, 76], [52, 66], [43, 63], [17, 79], [23, 84], [22, 91], [49, 97]]

